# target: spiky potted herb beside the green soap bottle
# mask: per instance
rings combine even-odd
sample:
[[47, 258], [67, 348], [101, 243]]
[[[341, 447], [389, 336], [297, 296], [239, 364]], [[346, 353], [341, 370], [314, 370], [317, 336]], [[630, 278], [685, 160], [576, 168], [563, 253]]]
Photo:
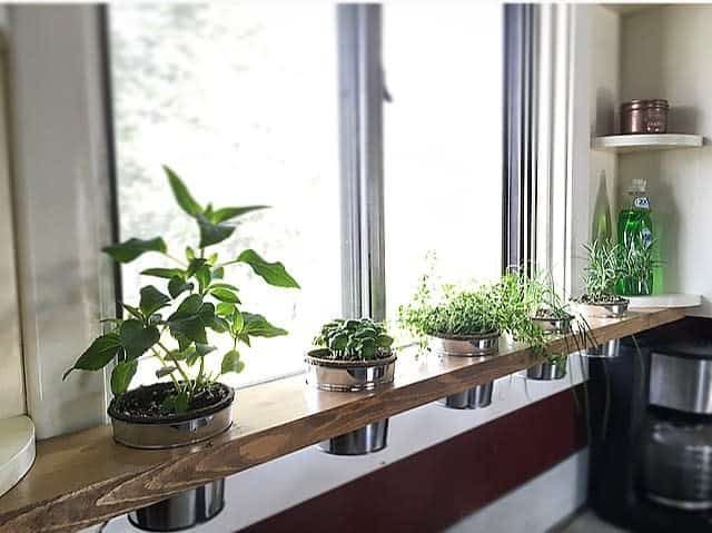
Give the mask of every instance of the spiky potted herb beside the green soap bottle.
[[574, 300], [577, 310], [590, 317], [620, 318], [627, 312], [629, 300], [619, 296], [615, 287], [624, 275], [622, 250], [609, 240], [584, 245], [587, 265], [583, 280], [586, 293]]

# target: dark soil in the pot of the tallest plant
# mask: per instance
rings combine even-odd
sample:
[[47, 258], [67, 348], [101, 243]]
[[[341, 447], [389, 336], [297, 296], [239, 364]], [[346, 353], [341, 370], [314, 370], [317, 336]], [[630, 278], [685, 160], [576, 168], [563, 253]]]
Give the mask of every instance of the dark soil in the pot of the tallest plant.
[[181, 422], [215, 413], [229, 405], [235, 397], [231, 387], [211, 383], [194, 396], [187, 411], [176, 413], [162, 406], [174, 392], [172, 383], [135, 388], [111, 401], [109, 416], [131, 423]]

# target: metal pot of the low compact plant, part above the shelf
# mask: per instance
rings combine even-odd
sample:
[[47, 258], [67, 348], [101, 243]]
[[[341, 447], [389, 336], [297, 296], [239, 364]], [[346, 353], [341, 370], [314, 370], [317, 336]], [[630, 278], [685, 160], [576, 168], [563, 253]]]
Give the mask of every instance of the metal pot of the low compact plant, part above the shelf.
[[307, 383], [320, 391], [373, 391], [393, 383], [395, 355], [373, 361], [333, 361], [319, 357], [327, 353], [327, 349], [314, 349], [304, 358], [307, 364]]

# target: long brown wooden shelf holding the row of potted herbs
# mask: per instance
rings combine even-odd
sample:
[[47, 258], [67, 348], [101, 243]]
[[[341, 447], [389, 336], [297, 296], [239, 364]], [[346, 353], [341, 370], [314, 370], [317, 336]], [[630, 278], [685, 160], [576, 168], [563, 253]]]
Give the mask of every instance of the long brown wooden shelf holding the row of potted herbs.
[[[603, 343], [684, 314], [641, 309], [590, 323]], [[562, 339], [551, 343], [554, 351], [563, 346]], [[41, 441], [32, 470], [0, 497], [0, 532], [80, 530], [536, 363], [530, 349], [502, 342], [501, 355], [482, 362], [402, 355], [393, 386], [375, 393], [317, 392], [303, 376], [279, 379], [239, 392], [228, 432], [170, 451], [116, 444], [108, 425]]]

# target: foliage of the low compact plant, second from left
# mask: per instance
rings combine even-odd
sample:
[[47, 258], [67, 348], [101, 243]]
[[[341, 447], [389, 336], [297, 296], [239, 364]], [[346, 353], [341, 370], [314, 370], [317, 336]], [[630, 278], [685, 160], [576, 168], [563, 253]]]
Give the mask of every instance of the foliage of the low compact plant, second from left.
[[332, 320], [322, 326], [314, 344], [328, 349], [337, 361], [368, 361], [388, 357], [393, 337], [383, 323], [370, 318]]

